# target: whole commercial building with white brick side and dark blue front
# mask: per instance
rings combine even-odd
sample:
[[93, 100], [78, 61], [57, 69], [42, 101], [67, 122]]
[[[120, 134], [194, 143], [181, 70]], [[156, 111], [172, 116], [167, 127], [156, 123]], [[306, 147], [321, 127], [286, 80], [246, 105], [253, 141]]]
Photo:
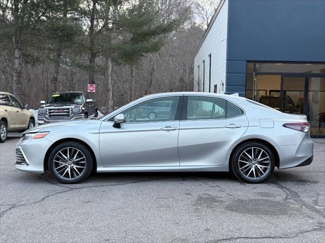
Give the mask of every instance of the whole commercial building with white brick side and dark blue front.
[[325, 1], [221, 0], [194, 59], [194, 89], [306, 114], [325, 136]]

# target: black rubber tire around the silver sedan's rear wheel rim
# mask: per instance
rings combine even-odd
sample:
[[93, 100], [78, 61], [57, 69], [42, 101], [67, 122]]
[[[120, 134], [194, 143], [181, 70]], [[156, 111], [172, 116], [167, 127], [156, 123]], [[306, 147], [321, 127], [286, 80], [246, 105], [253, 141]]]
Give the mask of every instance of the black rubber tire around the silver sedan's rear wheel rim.
[[[264, 152], [270, 158], [269, 160], [264, 160], [264, 161], [270, 161], [270, 163], [267, 165], [267, 166], [269, 166], [269, 169], [266, 169], [265, 174], [264, 175], [261, 174], [261, 176], [263, 176], [262, 178], [259, 178], [259, 179], [252, 178], [252, 179], [250, 179], [250, 178], [244, 176], [243, 173], [239, 169], [239, 164], [240, 164], [239, 157], [244, 153], [245, 150], [247, 150], [247, 149], [250, 150], [250, 148], [255, 149], [255, 153], [257, 153], [257, 154], [260, 151], [264, 150]], [[244, 154], [244, 156], [246, 156], [246, 155]], [[255, 157], [255, 159], [256, 159], [256, 157]], [[254, 161], [254, 160], [251, 160], [251, 161]], [[243, 165], [246, 166], [245, 164], [243, 164]], [[254, 165], [257, 166], [258, 161]], [[261, 183], [261, 182], [266, 181], [272, 175], [272, 173], [274, 171], [274, 166], [275, 166], [275, 156], [274, 156], [272, 150], [269, 147], [267, 147], [266, 145], [264, 145], [263, 143], [258, 143], [258, 142], [247, 142], [247, 143], [242, 144], [240, 147], [238, 147], [236, 149], [236, 151], [235, 151], [235, 153], [234, 153], [234, 155], [232, 156], [232, 159], [231, 159], [231, 169], [232, 169], [233, 173], [235, 174], [235, 176], [238, 179], [240, 179], [240, 180], [242, 180], [244, 182], [247, 182], [247, 183]], [[247, 166], [247, 168], [248, 167], [249, 167], [249, 169], [248, 169], [248, 171], [249, 171], [252, 166], [249, 165], [249, 166]], [[255, 168], [255, 166], [254, 166], [254, 168]], [[241, 167], [241, 169], [244, 170], [243, 167]], [[264, 170], [264, 168], [262, 168], [262, 169]], [[260, 174], [260, 172], [259, 172], [260, 170], [258, 170], [258, 168], [253, 169], [253, 170], [254, 170], [254, 172], [256, 171], [256, 174], [257, 174], [257, 171], [258, 171], [258, 174]]]

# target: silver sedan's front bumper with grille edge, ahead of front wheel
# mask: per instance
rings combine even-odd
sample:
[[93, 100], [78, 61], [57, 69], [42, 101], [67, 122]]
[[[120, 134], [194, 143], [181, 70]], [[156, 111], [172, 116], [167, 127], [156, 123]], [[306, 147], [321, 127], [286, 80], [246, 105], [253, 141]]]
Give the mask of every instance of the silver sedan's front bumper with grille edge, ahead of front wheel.
[[[30, 139], [20, 141], [16, 145], [16, 152], [18, 151], [18, 158], [14, 168], [19, 171], [44, 173], [44, 158], [46, 151], [53, 144], [46, 138]], [[22, 156], [26, 163], [22, 163]]]

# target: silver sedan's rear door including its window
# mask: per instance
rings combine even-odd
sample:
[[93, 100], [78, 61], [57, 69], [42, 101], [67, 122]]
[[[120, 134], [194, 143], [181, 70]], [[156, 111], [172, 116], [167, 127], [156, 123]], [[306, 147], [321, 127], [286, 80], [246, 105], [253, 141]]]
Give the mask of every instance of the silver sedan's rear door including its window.
[[178, 150], [180, 166], [220, 166], [231, 145], [247, 130], [244, 111], [215, 97], [184, 98]]

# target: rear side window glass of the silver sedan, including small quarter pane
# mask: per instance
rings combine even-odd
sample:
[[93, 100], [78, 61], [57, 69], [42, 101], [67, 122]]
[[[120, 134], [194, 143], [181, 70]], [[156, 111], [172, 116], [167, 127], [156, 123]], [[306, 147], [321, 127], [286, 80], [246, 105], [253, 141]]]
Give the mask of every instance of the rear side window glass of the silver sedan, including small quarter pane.
[[221, 98], [189, 96], [187, 100], [187, 120], [224, 119], [242, 114], [242, 109]]

